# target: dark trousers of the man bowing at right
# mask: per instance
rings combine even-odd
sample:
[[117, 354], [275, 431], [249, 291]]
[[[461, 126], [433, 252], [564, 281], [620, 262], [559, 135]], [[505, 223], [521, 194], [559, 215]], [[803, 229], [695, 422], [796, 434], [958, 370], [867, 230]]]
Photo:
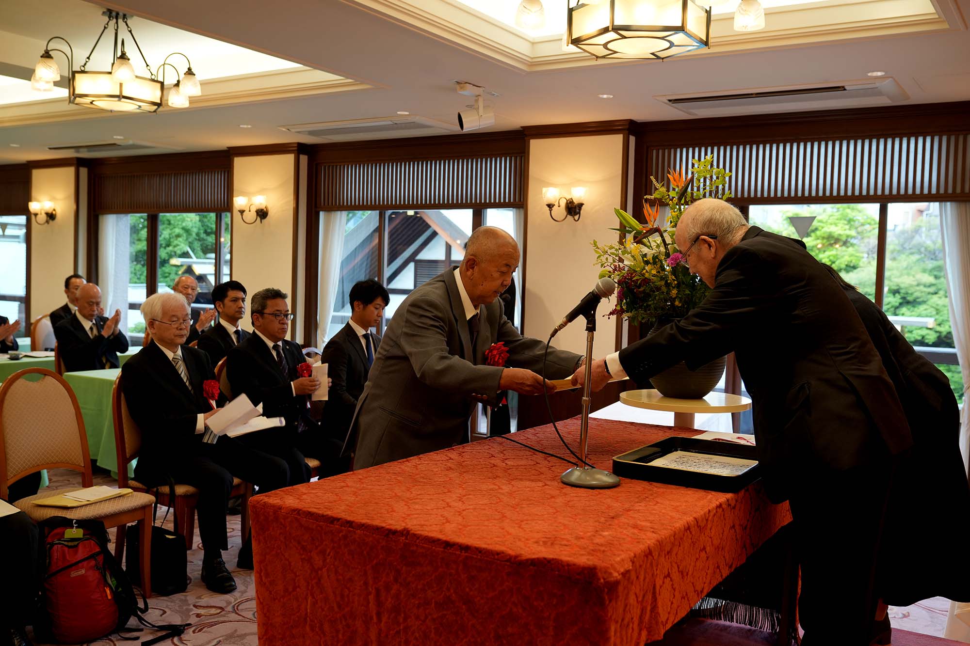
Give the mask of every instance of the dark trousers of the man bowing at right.
[[820, 473], [789, 501], [801, 565], [803, 646], [869, 643], [891, 471], [887, 458]]

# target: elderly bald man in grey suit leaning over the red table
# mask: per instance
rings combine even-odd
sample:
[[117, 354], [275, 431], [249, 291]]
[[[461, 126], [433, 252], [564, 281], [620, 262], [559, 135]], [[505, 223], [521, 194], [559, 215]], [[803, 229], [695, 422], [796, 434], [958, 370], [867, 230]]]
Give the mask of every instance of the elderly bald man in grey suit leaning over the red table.
[[[519, 245], [495, 227], [480, 227], [460, 267], [408, 295], [380, 343], [357, 404], [344, 452], [367, 468], [469, 441], [476, 402], [496, 395], [552, 392], [542, 370], [545, 343], [520, 335], [502, 313], [499, 296], [519, 265]], [[486, 365], [493, 343], [508, 349], [505, 367]], [[549, 348], [546, 376], [565, 378], [583, 357]]]

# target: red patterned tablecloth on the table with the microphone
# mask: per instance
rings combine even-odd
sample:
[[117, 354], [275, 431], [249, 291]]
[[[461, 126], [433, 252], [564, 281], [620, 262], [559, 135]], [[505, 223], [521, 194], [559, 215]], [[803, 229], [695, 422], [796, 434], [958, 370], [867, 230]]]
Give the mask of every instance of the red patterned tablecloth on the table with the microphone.
[[[696, 433], [591, 419], [590, 458]], [[566, 453], [551, 426], [514, 437]], [[640, 646], [791, 520], [760, 483], [595, 491], [566, 468], [494, 438], [253, 498], [260, 643]]]

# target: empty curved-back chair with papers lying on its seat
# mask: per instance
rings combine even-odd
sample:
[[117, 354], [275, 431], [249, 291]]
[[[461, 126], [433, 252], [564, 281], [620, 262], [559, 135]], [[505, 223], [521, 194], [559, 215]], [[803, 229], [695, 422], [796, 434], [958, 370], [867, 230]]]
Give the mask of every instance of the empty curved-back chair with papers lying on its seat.
[[[25, 378], [39, 377], [37, 380]], [[38, 405], [43, 403], [43, 405]], [[69, 468], [81, 472], [81, 485], [90, 487], [91, 459], [84, 433], [84, 420], [74, 391], [64, 377], [43, 368], [28, 368], [8, 377], [0, 386], [0, 498], [7, 487], [43, 468]], [[140, 525], [143, 590], [151, 596], [151, 506], [154, 499], [132, 493], [80, 507], [49, 507], [35, 501], [60, 496], [81, 487], [45, 491], [16, 501], [15, 506], [39, 522], [51, 516], [77, 520], [100, 520], [105, 527]]]

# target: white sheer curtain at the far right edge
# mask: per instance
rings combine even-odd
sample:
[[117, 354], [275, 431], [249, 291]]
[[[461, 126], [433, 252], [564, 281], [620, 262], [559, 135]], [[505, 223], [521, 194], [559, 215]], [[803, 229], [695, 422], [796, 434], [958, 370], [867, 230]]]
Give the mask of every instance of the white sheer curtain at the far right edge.
[[[940, 204], [940, 234], [956, 358], [963, 373], [963, 384], [970, 386], [970, 202]], [[967, 401], [966, 391], [960, 414], [959, 442], [963, 466], [966, 468], [970, 465], [970, 402]], [[954, 555], [954, 558], [962, 557]], [[970, 603], [951, 601], [943, 636], [970, 642]]]

